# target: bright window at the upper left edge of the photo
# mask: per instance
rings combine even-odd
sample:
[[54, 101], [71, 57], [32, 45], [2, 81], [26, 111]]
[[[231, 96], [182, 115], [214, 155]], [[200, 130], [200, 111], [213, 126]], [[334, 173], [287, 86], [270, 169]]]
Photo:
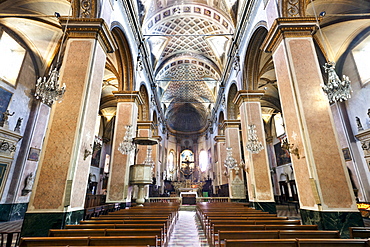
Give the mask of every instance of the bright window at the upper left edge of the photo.
[[26, 50], [0, 30], [0, 79], [15, 86]]

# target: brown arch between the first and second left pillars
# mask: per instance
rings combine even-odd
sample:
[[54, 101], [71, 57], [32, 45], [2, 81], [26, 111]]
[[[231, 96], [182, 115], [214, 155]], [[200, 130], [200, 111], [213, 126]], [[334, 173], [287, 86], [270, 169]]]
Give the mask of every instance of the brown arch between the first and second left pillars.
[[118, 46], [118, 49], [114, 52], [117, 60], [118, 90], [134, 91], [134, 60], [127, 38], [122, 32], [119, 24], [116, 23], [113, 26], [112, 35]]

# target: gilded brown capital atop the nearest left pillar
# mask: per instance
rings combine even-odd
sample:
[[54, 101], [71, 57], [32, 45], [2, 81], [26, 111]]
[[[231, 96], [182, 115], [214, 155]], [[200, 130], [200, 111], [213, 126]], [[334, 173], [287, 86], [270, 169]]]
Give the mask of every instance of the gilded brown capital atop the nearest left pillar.
[[68, 38], [97, 39], [106, 53], [117, 49], [108, 25], [102, 18], [62, 17], [60, 23], [63, 29], [67, 26]]

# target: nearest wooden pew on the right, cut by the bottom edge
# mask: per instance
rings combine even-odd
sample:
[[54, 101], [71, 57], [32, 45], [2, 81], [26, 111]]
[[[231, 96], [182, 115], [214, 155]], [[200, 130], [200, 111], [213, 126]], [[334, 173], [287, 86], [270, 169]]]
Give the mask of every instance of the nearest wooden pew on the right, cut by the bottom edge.
[[226, 239], [225, 247], [368, 247], [367, 239]]

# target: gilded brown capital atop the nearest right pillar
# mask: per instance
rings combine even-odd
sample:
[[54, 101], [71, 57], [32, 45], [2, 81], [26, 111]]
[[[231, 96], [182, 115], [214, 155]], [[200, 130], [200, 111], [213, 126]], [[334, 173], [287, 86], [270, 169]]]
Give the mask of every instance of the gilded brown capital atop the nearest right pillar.
[[318, 28], [314, 17], [277, 18], [262, 44], [262, 50], [272, 52], [283, 38], [312, 37]]

